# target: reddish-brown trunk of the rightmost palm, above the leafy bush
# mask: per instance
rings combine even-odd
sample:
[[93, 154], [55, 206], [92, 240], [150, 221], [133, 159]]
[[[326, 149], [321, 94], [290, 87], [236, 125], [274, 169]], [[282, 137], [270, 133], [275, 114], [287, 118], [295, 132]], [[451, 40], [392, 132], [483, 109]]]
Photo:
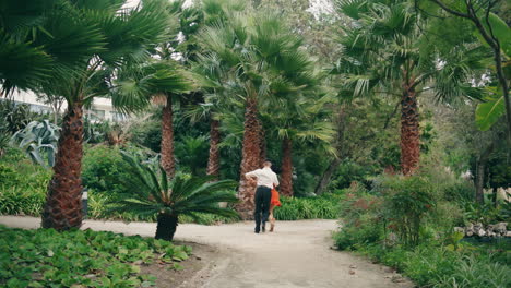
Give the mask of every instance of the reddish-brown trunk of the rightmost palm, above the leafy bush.
[[401, 99], [401, 169], [403, 175], [412, 175], [418, 167], [420, 157], [419, 119], [417, 94], [414, 81], [403, 85]]

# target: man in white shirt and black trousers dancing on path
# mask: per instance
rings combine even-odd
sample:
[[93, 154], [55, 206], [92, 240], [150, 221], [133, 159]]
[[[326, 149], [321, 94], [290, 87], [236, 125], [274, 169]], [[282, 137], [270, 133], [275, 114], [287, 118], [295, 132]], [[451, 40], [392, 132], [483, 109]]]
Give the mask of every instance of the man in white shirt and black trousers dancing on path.
[[262, 231], [265, 232], [266, 230], [266, 221], [270, 214], [270, 201], [272, 199], [272, 189], [273, 185], [278, 185], [276, 173], [272, 171], [271, 167], [272, 163], [264, 161], [262, 169], [257, 169], [245, 175], [246, 178], [257, 179], [258, 181], [258, 189], [255, 190], [254, 195], [255, 211], [253, 213], [253, 218], [255, 219], [255, 233], [259, 233], [261, 230], [261, 220]]

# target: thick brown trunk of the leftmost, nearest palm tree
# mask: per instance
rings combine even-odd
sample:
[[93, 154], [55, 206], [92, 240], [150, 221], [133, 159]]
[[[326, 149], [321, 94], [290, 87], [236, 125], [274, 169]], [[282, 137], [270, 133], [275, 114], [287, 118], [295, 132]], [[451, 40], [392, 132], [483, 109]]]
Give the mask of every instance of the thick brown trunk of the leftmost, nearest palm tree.
[[67, 230], [82, 225], [82, 117], [80, 103], [70, 105], [66, 111], [43, 212], [43, 228]]

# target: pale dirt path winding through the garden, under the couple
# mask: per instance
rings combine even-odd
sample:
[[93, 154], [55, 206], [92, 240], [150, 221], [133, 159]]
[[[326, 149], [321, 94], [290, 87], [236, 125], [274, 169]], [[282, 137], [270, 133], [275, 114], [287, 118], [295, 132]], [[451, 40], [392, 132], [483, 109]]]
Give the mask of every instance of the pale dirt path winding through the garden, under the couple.
[[[0, 224], [37, 228], [38, 218], [0, 216]], [[155, 224], [86, 220], [83, 228], [126, 235], [153, 236]], [[392, 271], [346, 252], [331, 250], [334, 220], [277, 223], [276, 231], [253, 233], [251, 223], [222, 226], [180, 225], [176, 239], [215, 247], [219, 256], [200, 280], [181, 287], [413, 287], [409, 281], [392, 281]], [[396, 277], [394, 277], [394, 280]]]

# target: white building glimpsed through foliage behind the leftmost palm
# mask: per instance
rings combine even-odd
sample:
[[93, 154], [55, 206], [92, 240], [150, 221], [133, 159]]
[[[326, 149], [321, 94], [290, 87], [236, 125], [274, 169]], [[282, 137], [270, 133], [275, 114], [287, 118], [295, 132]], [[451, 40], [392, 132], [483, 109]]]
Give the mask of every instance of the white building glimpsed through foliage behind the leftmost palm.
[[[52, 113], [54, 108], [45, 103], [37, 99], [37, 95], [31, 91], [14, 91], [10, 96], [15, 103], [27, 104], [31, 106], [31, 110], [40, 113]], [[62, 103], [60, 113], [63, 113], [67, 109], [66, 101]], [[122, 121], [127, 119], [127, 116], [116, 111], [111, 105], [111, 100], [108, 98], [96, 97], [93, 100], [91, 109], [85, 109], [84, 113], [91, 120], [110, 120], [110, 121]]]

